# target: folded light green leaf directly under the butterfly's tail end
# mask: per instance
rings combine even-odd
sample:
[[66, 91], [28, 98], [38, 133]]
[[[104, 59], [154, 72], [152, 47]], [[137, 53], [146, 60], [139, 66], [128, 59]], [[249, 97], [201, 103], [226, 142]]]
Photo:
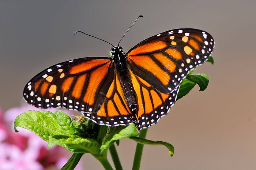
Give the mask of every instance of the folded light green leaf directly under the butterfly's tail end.
[[114, 130], [106, 135], [103, 139], [103, 145], [101, 146], [101, 154], [108, 149], [116, 140], [128, 138], [128, 137], [135, 137], [138, 136], [139, 133], [134, 124], [130, 124], [128, 126], [116, 126]]

